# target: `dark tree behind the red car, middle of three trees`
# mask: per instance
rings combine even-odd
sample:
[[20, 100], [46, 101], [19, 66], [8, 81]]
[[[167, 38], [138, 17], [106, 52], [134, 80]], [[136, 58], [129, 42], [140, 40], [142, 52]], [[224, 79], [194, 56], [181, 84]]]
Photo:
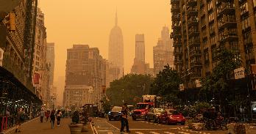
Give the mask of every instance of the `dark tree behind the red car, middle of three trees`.
[[177, 105], [180, 103], [177, 94], [179, 92], [179, 84], [182, 79], [179, 77], [177, 70], [171, 68], [168, 64], [161, 70], [152, 83], [152, 94], [161, 97], [162, 103], [170, 103]]

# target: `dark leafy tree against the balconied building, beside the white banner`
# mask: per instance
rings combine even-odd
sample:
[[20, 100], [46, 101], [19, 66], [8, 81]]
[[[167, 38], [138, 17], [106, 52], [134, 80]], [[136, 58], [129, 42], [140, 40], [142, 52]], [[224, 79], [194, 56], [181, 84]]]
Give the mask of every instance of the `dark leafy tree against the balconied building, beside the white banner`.
[[[221, 106], [227, 105], [233, 100], [244, 100], [246, 95], [244, 91], [244, 79], [234, 80], [234, 70], [241, 67], [241, 60], [238, 58], [238, 53], [233, 50], [221, 50], [216, 56], [218, 64], [213, 69], [210, 75], [202, 78], [202, 89], [200, 91], [204, 100], [209, 101], [212, 97], [214, 98], [215, 104]], [[209, 96], [209, 94], [211, 94]]]

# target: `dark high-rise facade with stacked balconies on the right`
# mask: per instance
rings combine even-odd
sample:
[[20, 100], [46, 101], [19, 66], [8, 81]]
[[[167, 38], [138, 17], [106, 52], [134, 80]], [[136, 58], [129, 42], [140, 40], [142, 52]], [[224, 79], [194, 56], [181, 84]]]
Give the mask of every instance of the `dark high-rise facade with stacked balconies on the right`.
[[185, 88], [216, 67], [217, 50], [233, 49], [255, 64], [255, 0], [171, 0], [174, 64]]

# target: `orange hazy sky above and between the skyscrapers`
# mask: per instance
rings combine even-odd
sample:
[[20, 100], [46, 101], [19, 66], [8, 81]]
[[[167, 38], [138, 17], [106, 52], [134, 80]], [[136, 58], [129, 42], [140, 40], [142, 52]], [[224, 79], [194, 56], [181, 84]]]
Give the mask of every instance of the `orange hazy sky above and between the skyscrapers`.
[[170, 0], [39, 0], [38, 7], [45, 14], [47, 42], [55, 42], [54, 81], [65, 76], [66, 50], [73, 44], [99, 48], [108, 58], [115, 8], [124, 36], [125, 73], [135, 58], [135, 34], [145, 34], [146, 62], [153, 67], [153, 46], [163, 26], [171, 28]]

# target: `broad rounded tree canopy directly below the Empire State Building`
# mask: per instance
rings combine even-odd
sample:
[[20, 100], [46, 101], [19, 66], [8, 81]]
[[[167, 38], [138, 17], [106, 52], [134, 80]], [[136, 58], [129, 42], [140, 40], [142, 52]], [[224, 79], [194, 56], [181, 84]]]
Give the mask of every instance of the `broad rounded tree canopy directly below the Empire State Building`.
[[111, 105], [135, 105], [141, 102], [142, 95], [149, 94], [150, 85], [153, 83], [151, 75], [128, 74], [110, 83], [107, 97]]

